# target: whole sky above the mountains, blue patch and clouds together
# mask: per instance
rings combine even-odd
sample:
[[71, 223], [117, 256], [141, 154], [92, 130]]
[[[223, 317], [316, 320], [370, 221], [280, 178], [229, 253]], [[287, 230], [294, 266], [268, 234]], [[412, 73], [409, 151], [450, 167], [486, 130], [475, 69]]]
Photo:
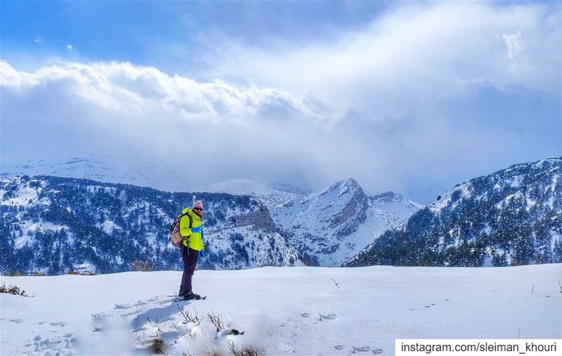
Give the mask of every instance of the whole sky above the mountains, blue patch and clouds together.
[[199, 169], [176, 169], [194, 186], [353, 177], [429, 204], [561, 155], [558, 2], [0, 6], [4, 167], [37, 152], [176, 167], [197, 144]]

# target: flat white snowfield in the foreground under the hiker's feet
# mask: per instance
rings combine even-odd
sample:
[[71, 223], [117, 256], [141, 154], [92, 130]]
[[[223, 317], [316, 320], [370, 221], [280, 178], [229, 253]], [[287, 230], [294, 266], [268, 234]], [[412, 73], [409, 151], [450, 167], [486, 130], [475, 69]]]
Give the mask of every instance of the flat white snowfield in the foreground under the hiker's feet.
[[[395, 338], [561, 338], [562, 265], [197, 271], [205, 301], [175, 303], [181, 272], [1, 277], [1, 355], [394, 354]], [[336, 283], [338, 285], [336, 285]], [[184, 323], [184, 313], [200, 324]], [[211, 326], [244, 331], [225, 336]], [[363, 348], [365, 347], [365, 348]]]

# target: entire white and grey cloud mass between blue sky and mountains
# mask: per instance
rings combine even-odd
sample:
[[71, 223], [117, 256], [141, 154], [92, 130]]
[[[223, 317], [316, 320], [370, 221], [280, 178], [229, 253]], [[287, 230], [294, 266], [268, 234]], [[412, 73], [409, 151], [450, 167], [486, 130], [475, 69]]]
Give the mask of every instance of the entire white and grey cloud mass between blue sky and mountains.
[[429, 203], [560, 154], [560, 34], [542, 4], [407, 4], [315, 45], [213, 37], [209, 81], [127, 62], [0, 62], [2, 164], [98, 152], [168, 164], [192, 186], [351, 176]]

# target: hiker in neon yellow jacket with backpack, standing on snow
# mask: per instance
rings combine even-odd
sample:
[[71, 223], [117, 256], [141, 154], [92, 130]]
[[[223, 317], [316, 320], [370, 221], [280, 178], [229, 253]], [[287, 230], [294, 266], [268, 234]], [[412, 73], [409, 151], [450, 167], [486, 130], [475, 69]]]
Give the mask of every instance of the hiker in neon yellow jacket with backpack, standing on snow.
[[203, 203], [200, 200], [193, 203], [192, 209], [185, 208], [181, 211], [180, 234], [183, 236], [181, 258], [183, 259], [183, 275], [178, 296], [184, 299], [200, 299], [199, 294], [192, 291], [191, 278], [197, 265], [197, 256], [203, 253]]

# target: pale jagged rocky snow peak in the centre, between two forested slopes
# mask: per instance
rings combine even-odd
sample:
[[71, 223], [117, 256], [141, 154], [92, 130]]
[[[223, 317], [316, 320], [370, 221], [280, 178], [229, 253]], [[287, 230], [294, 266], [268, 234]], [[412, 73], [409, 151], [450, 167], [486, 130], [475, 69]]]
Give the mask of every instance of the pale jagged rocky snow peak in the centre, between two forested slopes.
[[420, 208], [399, 194], [367, 197], [348, 178], [309, 195], [271, 207], [282, 235], [313, 265], [341, 265], [385, 230], [396, 228]]

